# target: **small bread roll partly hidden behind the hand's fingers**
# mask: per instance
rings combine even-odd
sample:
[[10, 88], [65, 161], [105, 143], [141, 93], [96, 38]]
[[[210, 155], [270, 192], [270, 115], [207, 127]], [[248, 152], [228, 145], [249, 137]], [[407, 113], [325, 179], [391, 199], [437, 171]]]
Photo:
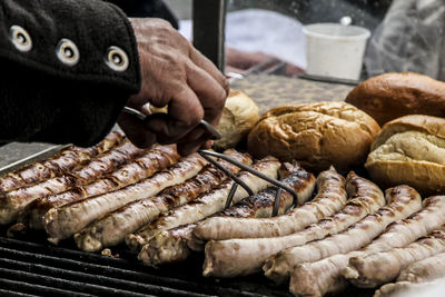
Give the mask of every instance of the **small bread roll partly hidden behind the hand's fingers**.
[[257, 123], [258, 107], [241, 91], [230, 90], [218, 125], [221, 139], [215, 141], [218, 150], [235, 147]]

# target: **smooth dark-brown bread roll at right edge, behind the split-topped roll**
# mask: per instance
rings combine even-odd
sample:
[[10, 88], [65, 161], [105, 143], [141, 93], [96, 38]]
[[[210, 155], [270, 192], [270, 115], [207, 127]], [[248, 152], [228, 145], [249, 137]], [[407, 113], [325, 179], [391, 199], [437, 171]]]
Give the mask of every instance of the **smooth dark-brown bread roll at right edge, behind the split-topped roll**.
[[355, 87], [345, 101], [380, 126], [406, 115], [445, 117], [445, 82], [414, 72], [385, 73]]

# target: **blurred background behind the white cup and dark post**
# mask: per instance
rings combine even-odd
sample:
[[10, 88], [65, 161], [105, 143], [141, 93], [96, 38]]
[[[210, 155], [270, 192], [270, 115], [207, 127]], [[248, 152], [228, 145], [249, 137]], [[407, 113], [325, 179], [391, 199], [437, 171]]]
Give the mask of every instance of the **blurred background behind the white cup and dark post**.
[[[192, 0], [165, 2], [191, 39]], [[274, 57], [288, 63], [286, 75], [299, 76], [307, 68], [303, 27], [329, 22], [370, 31], [362, 80], [389, 71], [445, 78], [444, 0], [227, 0], [226, 9], [228, 71]]]

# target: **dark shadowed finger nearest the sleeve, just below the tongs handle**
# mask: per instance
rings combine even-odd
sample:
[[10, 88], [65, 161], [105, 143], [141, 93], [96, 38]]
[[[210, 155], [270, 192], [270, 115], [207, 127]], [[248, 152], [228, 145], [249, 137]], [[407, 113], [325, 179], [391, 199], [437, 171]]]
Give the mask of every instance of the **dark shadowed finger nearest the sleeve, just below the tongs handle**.
[[120, 113], [118, 123], [131, 143], [138, 148], [148, 148], [156, 142], [156, 135], [147, 130], [144, 122], [132, 115]]

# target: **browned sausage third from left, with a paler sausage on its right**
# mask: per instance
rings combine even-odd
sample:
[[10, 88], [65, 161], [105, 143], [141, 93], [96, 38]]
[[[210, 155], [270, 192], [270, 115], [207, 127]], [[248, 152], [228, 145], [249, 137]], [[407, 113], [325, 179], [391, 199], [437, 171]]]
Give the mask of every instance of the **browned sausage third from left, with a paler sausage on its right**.
[[121, 189], [145, 178], [151, 177], [155, 172], [176, 164], [180, 156], [175, 146], [157, 146], [146, 151], [141, 157], [120, 167], [103, 178], [89, 185], [79, 186], [66, 192], [47, 196], [33, 200], [20, 216], [21, 222], [31, 229], [43, 229], [44, 215], [56, 207], [86, 199], [91, 196], [102, 195]]

